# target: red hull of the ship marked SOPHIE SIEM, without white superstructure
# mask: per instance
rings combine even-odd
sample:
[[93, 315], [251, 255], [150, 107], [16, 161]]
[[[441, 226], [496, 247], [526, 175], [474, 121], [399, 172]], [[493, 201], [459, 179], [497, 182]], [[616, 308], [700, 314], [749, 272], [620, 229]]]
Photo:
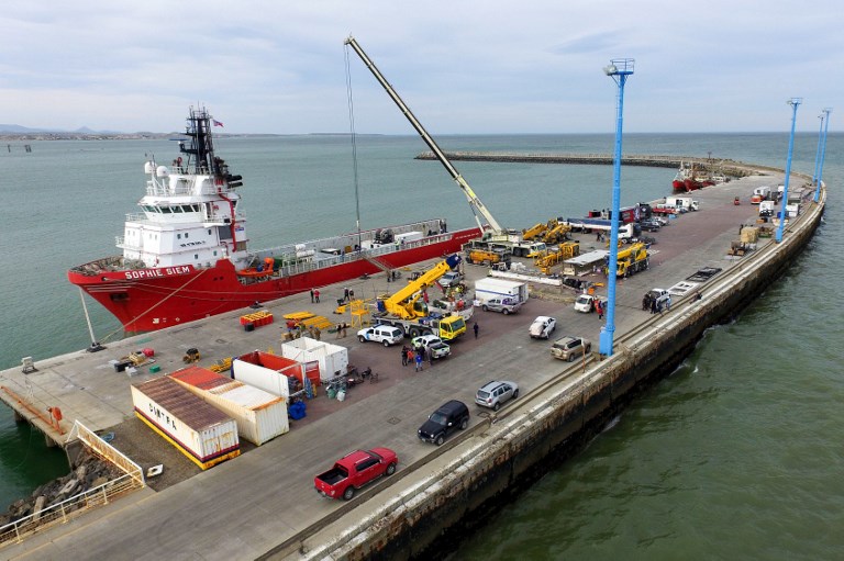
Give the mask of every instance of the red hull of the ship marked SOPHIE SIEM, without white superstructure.
[[[459, 251], [464, 244], [479, 236], [478, 228], [456, 231], [435, 243], [380, 255], [378, 261], [390, 269], [406, 267]], [[202, 269], [180, 266], [131, 271], [102, 270], [96, 274], [71, 270], [68, 279], [111, 312], [127, 333], [141, 333], [382, 271], [367, 259], [352, 254], [346, 258], [345, 262], [330, 267], [247, 283], [238, 280], [234, 266], [226, 259]], [[324, 298], [332, 296], [325, 294]]]

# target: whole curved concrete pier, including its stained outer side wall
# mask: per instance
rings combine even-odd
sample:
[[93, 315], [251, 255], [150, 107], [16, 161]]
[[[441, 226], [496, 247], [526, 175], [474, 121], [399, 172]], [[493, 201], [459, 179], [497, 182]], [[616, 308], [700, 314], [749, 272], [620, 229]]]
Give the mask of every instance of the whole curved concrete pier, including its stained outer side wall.
[[[551, 358], [549, 343], [528, 336], [536, 315], [552, 315], [559, 325], [555, 335], [586, 336], [597, 350], [601, 324], [595, 314], [574, 312], [575, 293], [566, 288], [535, 287], [540, 298], [532, 298], [517, 315], [476, 311], [480, 336], [455, 343], [451, 358], [425, 366], [419, 374], [401, 367], [395, 347], [360, 344], [353, 337], [332, 340], [347, 345], [349, 361], [371, 366], [381, 381], [352, 389], [344, 402], [320, 395], [308, 403], [308, 417], [293, 423], [289, 434], [241, 458], [160, 492], [134, 493], [22, 543], [0, 546], [0, 551], [21, 559], [162, 559], [188, 551], [204, 559], [423, 558], [447, 542], [449, 532], [470, 528], [477, 513], [493, 509], [548, 464], [577, 451], [638, 391], [670, 371], [703, 329], [736, 314], [788, 267], [820, 222], [825, 191], [820, 204], [803, 204], [781, 244], [763, 238], [746, 256], [728, 257], [738, 226], [756, 220], [757, 207], [747, 202], [753, 189], [782, 178], [781, 172], [759, 173], [765, 175], [693, 192], [701, 210], [654, 234], [651, 269], [619, 283], [618, 351], [612, 358], [600, 360], [592, 354], [585, 361], [562, 362]], [[792, 182], [804, 179], [795, 176]], [[743, 204], [734, 205], [735, 197]], [[598, 248], [593, 235], [579, 239], [581, 251]], [[688, 281], [707, 267], [720, 272]], [[470, 266], [466, 271], [470, 285], [487, 273]], [[698, 282], [695, 290], [703, 298], [677, 296], [663, 315], [641, 310], [645, 291], [680, 281]], [[367, 298], [391, 289], [386, 278], [348, 285]], [[267, 310], [277, 317], [312, 310], [349, 322], [347, 315], [333, 314], [334, 296], [342, 289], [321, 289], [322, 304], [311, 304], [306, 293], [268, 303]], [[95, 430], [109, 428], [132, 415], [129, 384], [160, 375], [141, 368], [130, 378], [115, 372], [110, 359], [153, 347], [156, 364], [170, 372], [184, 366], [181, 357], [190, 347], [202, 352], [202, 366], [210, 366], [226, 356], [281, 344], [282, 324], [248, 333], [238, 315], [134, 337], [98, 354], [34, 357], [37, 372], [11, 369], [0, 373], [0, 384], [13, 390], [31, 386], [35, 407], [59, 406], [66, 422], [80, 418]], [[519, 400], [498, 413], [476, 407], [477, 388], [499, 377], [519, 383]], [[415, 429], [448, 399], [469, 404], [469, 428], [438, 448], [420, 442]], [[121, 442], [113, 445], [120, 449]], [[375, 446], [398, 452], [393, 476], [347, 503], [316, 495], [315, 473], [355, 448]]]

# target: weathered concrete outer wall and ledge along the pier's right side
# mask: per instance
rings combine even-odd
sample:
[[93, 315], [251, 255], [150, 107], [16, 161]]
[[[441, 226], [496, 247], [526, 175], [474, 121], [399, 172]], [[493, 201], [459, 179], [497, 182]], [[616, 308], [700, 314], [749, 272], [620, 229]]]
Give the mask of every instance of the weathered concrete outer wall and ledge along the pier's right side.
[[825, 203], [807, 203], [780, 244], [749, 254], [707, 285], [617, 339], [615, 354], [562, 367], [558, 375], [400, 470], [364, 505], [343, 505], [321, 527], [262, 559], [436, 559], [549, 468], [576, 453], [635, 395], [670, 373], [704, 329], [732, 319], [773, 283], [814, 234]]

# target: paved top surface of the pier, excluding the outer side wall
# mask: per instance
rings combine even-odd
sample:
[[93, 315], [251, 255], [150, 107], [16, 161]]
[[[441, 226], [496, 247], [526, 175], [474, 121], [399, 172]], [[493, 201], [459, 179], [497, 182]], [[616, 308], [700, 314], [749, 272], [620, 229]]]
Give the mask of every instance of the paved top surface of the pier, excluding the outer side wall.
[[[674, 314], [677, 308], [690, 305], [691, 292], [700, 291], [706, 298], [712, 282], [753, 258], [754, 253], [741, 258], [728, 257], [726, 250], [738, 239], [742, 224], [756, 222], [757, 206], [749, 204], [753, 189], [782, 179], [781, 173], [766, 173], [690, 193], [700, 201], [700, 211], [678, 216], [660, 232], [648, 233], [657, 239], [652, 247], [651, 268], [619, 280], [617, 285], [617, 348], [629, 334], [658, 329], [659, 317], [642, 311], [642, 296], [647, 290], [688, 283], [689, 293], [675, 296], [671, 311], [666, 312]], [[802, 179], [795, 176], [791, 184], [801, 182]], [[666, 193], [670, 195], [669, 191], [670, 186], [666, 186]], [[736, 197], [741, 198], [741, 205], [733, 204]], [[575, 238], [580, 242], [581, 254], [606, 249], [595, 235], [578, 234]], [[769, 244], [774, 244], [773, 238], [760, 238], [756, 253]], [[425, 270], [433, 262], [419, 263], [413, 270]], [[696, 278], [702, 269], [721, 271], [708, 279]], [[469, 265], [465, 271], [469, 287], [487, 272]], [[604, 281], [597, 274], [587, 279]], [[390, 292], [393, 288], [382, 274], [345, 285], [364, 298]], [[266, 303], [276, 323], [254, 332], [245, 332], [238, 322], [242, 314], [252, 312], [244, 310], [109, 344], [99, 352], [82, 350], [55, 358], [33, 357], [35, 372], [24, 374], [21, 368], [1, 372], [0, 384], [26, 397], [33, 409], [60, 407], [65, 418], [62, 426], [66, 430], [73, 419], [79, 419], [92, 430], [114, 430], [118, 436], [112, 444], [119, 449], [125, 444], [130, 457], [132, 449], [147, 448], [147, 456], [136, 460], [142, 468], [164, 463], [164, 475], [168, 470], [184, 473], [166, 485], [158, 485], [158, 491], [155, 491], [155, 480], [149, 480], [149, 487], [22, 543], [8, 545], [3, 554], [21, 559], [158, 559], [191, 551], [203, 559], [253, 559], [306, 530], [322, 529], [338, 536], [344, 515], [360, 519], [373, 505], [388, 501], [395, 492], [378, 485], [371, 492], [362, 491], [351, 503], [319, 497], [313, 490], [313, 475], [327, 469], [336, 458], [356, 448], [392, 448], [398, 452], [400, 464], [397, 474], [387, 482], [408, 489], [422, 481], [423, 473], [443, 469], [454, 455], [485, 438], [484, 433], [470, 429], [452, 437], [441, 448], [420, 442], [417, 428], [441, 403], [448, 399], [464, 401], [471, 411], [470, 425], [477, 425], [496, 414], [474, 405], [476, 389], [491, 379], [513, 380], [519, 383], [520, 397], [498, 415], [514, 418], [526, 414], [522, 403], [529, 403], [532, 392], [537, 392], [548, 380], [574, 377], [581, 371], [578, 362], [569, 364], [552, 359], [549, 343], [529, 338], [528, 326], [535, 316], [557, 318], [553, 338], [581, 335], [591, 339], [593, 350], [598, 350], [602, 324], [597, 315], [575, 312], [571, 303], [576, 293], [570, 289], [537, 284], [532, 287], [532, 296], [536, 298], [531, 298], [519, 314], [504, 316], [477, 310], [473, 322], [479, 326], [479, 336], [475, 338], [469, 330], [452, 345], [449, 358], [435, 361], [432, 367], [425, 364], [420, 373], [414, 373], [412, 367], [401, 366], [399, 348], [358, 343], [354, 337], [357, 327], [351, 327], [345, 339], [323, 332], [323, 340], [348, 347], [349, 363], [370, 367], [379, 372], [380, 381], [349, 389], [344, 402], [329, 400], [320, 392], [316, 399], [308, 401], [307, 416], [291, 422], [290, 433], [262, 447], [247, 447], [240, 458], [206, 472], [186, 469], [179, 462], [189, 461], [175, 453], [163, 439], [149, 436], [147, 444], [138, 445], [130, 441], [131, 431], [120, 428], [136, 423], [130, 384], [160, 374], [152, 374], [148, 366], [140, 367], [132, 377], [118, 373], [110, 360], [149, 347], [155, 350], [155, 364], [160, 371], [173, 372], [185, 366], [182, 356], [191, 347], [200, 350], [199, 364], [204, 367], [255, 349], [278, 349], [286, 332], [280, 321], [284, 314], [309, 311], [334, 323], [352, 324], [348, 312], [334, 313], [343, 289], [344, 285], [323, 289], [319, 304], [311, 304], [307, 293]], [[606, 289], [600, 292], [606, 293]], [[19, 407], [2, 391], [0, 399], [13, 408]], [[33, 418], [31, 412], [21, 414], [48, 437], [62, 440], [53, 427]], [[123, 435], [125, 442], [121, 441]]]

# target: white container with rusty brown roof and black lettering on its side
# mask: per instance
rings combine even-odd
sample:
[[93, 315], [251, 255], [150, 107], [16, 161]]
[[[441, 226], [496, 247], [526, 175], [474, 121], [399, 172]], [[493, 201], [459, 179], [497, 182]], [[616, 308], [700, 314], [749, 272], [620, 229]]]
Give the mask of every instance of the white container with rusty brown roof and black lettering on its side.
[[141, 420], [203, 470], [241, 453], [235, 420], [167, 377], [132, 385], [132, 403]]

